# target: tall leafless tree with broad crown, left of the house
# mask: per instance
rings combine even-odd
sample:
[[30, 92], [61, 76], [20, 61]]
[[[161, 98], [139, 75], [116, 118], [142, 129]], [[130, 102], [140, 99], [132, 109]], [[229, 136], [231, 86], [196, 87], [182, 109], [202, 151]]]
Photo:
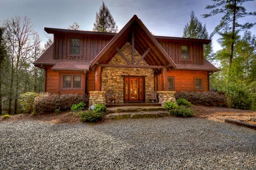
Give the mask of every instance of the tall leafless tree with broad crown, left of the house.
[[7, 48], [11, 60], [11, 77], [9, 91], [9, 114], [14, 97], [14, 114], [17, 113], [19, 96], [19, 71], [27, 59], [32, 57], [31, 39], [34, 35], [30, 18], [15, 16], [5, 21]]

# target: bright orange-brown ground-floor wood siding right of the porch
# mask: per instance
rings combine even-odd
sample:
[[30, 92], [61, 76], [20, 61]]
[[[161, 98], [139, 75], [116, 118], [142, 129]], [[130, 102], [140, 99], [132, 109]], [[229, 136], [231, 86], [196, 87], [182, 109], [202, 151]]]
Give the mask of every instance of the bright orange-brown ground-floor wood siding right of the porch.
[[[209, 91], [208, 71], [172, 70], [167, 76], [174, 78], [174, 88], [180, 91]], [[202, 79], [202, 90], [195, 89], [195, 79]]]

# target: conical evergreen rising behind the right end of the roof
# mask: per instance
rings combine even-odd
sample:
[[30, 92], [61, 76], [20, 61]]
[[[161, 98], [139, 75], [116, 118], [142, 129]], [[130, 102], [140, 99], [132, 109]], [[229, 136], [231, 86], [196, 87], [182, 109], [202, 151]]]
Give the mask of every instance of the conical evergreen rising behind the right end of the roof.
[[[211, 39], [209, 37], [206, 24], [203, 24], [197, 19], [194, 11], [191, 11], [190, 22], [183, 29], [183, 37], [191, 39]], [[212, 53], [212, 42], [204, 45], [204, 57], [210, 59]]]

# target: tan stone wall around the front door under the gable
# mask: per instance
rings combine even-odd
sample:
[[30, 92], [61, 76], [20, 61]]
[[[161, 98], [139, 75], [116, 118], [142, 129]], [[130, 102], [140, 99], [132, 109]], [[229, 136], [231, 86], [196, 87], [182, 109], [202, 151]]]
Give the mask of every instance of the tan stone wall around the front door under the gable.
[[[121, 49], [124, 56], [129, 59], [131, 63], [131, 45], [127, 42]], [[141, 55], [137, 50], [134, 52], [135, 63]], [[127, 65], [125, 59], [117, 53], [110, 60], [109, 64], [116, 65]], [[148, 65], [144, 59], [139, 63], [139, 65]], [[154, 70], [144, 69], [144, 68], [121, 68], [121, 67], [104, 67], [101, 73], [101, 91], [108, 90], [111, 95], [115, 95], [117, 100], [116, 103], [123, 103], [123, 76], [145, 76], [145, 101], [147, 101], [148, 96], [154, 91]]]

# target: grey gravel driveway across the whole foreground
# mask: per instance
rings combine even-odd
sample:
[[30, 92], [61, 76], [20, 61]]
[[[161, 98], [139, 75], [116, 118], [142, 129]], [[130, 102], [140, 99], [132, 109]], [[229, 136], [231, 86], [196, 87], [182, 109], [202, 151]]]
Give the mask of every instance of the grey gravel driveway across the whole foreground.
[[0, 169], [256, 169], [256, 131], [199, 118], [0, 123]]

